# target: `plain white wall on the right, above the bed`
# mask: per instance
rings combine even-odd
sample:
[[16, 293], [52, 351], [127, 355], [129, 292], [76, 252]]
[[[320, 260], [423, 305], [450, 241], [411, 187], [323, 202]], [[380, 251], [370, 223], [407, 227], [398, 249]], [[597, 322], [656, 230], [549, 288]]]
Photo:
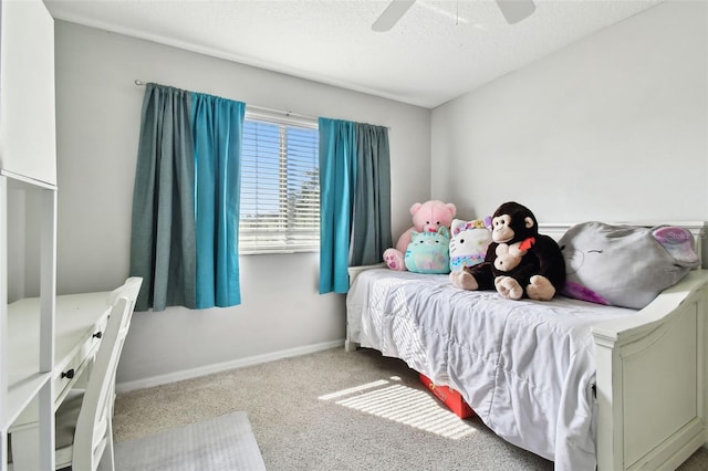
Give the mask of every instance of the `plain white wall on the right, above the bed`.
[[431, 196], [482, 217], [708, 219], [705, 1], [668, 1], [433, 112]]

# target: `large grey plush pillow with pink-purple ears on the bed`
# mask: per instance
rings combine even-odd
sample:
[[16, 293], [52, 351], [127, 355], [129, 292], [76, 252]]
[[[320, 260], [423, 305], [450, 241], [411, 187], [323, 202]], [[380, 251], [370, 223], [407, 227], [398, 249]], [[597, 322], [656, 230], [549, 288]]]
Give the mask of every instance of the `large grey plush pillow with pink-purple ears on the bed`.
[[559, 240], [568, 279], [562, 294], [641, 310], [700, 264], [691, 233], [583, 222]]

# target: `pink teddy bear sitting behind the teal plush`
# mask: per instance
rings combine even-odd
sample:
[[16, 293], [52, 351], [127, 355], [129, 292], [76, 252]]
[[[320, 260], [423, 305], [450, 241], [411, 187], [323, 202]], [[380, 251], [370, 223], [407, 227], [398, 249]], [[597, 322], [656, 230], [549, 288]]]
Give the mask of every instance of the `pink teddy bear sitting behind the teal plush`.
[[451, 202], [445, 203], [439, 200], [430, 200], [426, 202], [416, 202], [410, 207], [413, 216], [413, 227], [405, 231], [398, 238], [395, 248], [384, 251], [384, 262], [391, 270], [405, 271], [405, 254], [410, 243], [410, 232], [437, 232], [445, 226], [448, 230], [452, 223], [452, 219], [457, 212], [457, 208]]

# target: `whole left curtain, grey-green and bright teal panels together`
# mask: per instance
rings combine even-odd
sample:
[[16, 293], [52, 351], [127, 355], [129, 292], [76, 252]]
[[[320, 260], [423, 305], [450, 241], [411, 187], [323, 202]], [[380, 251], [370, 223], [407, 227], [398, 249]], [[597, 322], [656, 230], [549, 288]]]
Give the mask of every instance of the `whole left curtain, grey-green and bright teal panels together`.
[[148, 83], [131, 236], [137, 311], [240, 304], [238, 222], [246, 104]]

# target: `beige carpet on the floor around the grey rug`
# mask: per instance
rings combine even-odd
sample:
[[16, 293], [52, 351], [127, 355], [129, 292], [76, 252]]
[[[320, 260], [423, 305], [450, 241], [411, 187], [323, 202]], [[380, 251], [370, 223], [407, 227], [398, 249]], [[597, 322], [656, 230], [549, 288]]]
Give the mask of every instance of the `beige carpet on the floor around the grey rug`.
[[[114, 432], [125, 441], [238, 410], [269, 471], [553, 469], [479, 419], [458, 419], [415, 371], [373, 350], [330, 349], [121, 394]], [[708, 450], [680, 470], [708, 470]]]

